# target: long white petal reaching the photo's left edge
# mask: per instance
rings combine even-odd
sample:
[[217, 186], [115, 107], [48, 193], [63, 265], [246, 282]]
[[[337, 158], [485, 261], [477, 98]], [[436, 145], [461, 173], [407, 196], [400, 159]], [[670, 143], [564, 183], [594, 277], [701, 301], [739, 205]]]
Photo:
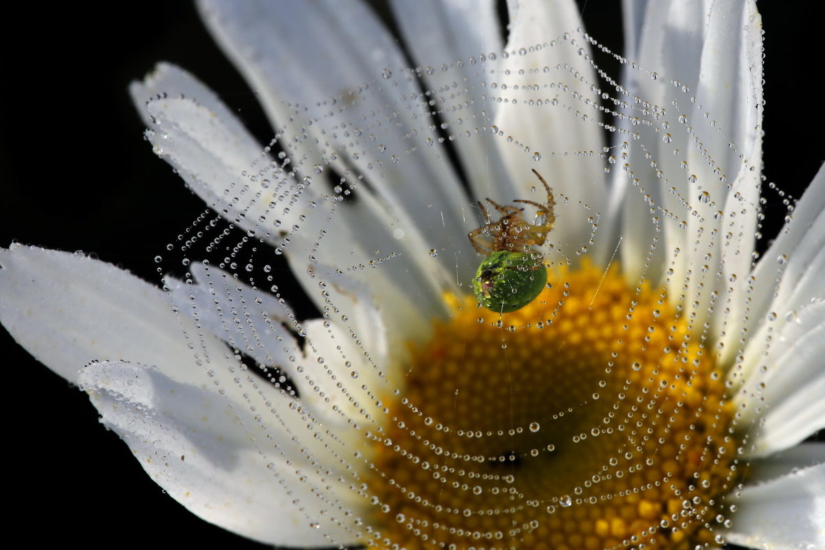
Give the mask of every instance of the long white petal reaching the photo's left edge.
[[[92, 360], [139, 360], [194, 388], [214, 388], [224, 401], [247, 410], [271, 411], [271, 433], [283, 442], [285, 458], [309, 453], [331, 468], [340, 463], [342, 443], [314, 419], [288, 407], [281, 392], [246, 372], [223, 342], [172, 311], [165, 293], [101, 261], [68, 252], [13, 246], [0, 252], [3, 302], [0, 318], [21, 346], [54, 372], [77, 383]], [[251, 391], [254, 390], [254, 391]], [[318, 438], [306, 436], [293, 449], [293, 426], [305, 435], [314, 424]], [[225, 435], [229, 438], [231, 434]], [[307, 450], [309, 449], [309, 450]]]

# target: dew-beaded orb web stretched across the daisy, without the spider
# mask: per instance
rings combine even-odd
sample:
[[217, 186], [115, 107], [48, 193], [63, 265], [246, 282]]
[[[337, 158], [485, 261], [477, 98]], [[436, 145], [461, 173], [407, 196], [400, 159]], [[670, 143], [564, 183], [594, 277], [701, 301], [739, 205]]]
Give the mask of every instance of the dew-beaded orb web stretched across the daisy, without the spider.
[[[717, 99], [571, 29], [281, 98], [270, 143], [214, 152], [234, 162], [219, 176], [177, 156], [200, 142], [167, 111], [210, 131], [219, 117], [197, 97], [148, 101], [147, 139], [210, 207], [158, 275], [302, 527], [374, 548], [724, 543], [775, 372], [762, 357], [811, 304], [767, 306], [795, 282], [794, 251], [780, 234], [757, 267], [759, 152]], [[535, 199], [534, 167], [556, 197], [549, 288], [498, 315], [468, 296], [466, 236], [477, 200]]]

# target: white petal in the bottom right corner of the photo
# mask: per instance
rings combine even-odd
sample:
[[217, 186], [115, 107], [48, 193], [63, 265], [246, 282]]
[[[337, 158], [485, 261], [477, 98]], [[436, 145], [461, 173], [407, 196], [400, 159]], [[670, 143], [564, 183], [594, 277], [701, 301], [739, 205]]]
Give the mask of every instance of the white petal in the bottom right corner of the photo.
[[752, 487], [733, 500], [738, 508], [728, 543], [748, 548], [825, 547], [825, 463]]

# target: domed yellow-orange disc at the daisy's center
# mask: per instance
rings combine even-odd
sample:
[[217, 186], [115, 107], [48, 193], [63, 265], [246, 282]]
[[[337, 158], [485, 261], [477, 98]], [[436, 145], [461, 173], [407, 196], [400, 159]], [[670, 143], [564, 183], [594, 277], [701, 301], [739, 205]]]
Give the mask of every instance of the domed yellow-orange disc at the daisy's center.
[[714, 356], [620, 270], [498, 315], [447, 297], [376, 444], [375, 548], [694, 548], [738, 482]]

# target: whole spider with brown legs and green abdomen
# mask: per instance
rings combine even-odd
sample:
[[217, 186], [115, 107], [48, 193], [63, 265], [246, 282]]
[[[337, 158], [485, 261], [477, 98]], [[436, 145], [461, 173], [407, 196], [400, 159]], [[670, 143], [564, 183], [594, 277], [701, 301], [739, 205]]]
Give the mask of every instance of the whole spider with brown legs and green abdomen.
[[493, 222], [489, 210], [479, 201], [484, 213], [484, 225], [469, 232], [470, 244], [487, 256], [479, 265], [473, 279], [473, 292], [479, 303], [498, 313], [510, 313], [525, 307], [538, 296], [547, 283], [540, 247], [547, 239], [556, 221], [553, 190], [539, 172], [533, 171], [547, 191], [547, 202], [514, 200], [535, 206], [533, 223], [522, 217], [523, 208], [497, 204], [488, 199], [502, 218]]

